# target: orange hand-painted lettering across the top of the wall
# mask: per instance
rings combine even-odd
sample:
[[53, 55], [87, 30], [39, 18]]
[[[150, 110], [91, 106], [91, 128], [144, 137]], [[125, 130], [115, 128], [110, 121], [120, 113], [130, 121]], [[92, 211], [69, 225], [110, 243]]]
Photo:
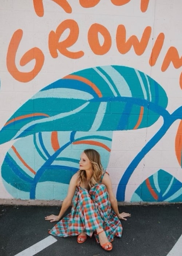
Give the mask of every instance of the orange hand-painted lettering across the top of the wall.
[[[65, 11], [68, 12], [68, 7], [70, 6], [66, 0], [52, 0], [56, 3], [58, 3]], [[96, 4], [99, 3], [100, 0], [80, 0], [80, 4], [83, 7], [93, 7]], [[129, 1], [128, 0], [111, 0], [113, 4], [126, 4]], [[41, 0], [34, 0], [34, 8], [36, 10], [36, 13], [39, 10], [39, 14], [42, 15], [42, 1]], [[141, 4], [149, 3], [148, 1], [142, 1]], [[39, 8], [38, 8], [39, 7]], [[71, 11], [71, 10], [70, 10]], [[67, 38], [61, 41], [61, 36], [64, 33], [64, 31], [69, 30], [70, 33], [68, 34]], [[147, 26], [143, 30], [142, 37], [139, 41], [136, 35], [132, 35], [128, 39], [126, 39], [126, 29], [124, 25], [120, 24], [118, 25], [116, 29], [116, 35], [115, 35], [115, 42], [116, 47], [118, 49], [118, 52], [120, 54], [126, 54], [131, 47], [134, 48], [135, 53], [140, 56], [142, 55], [146, 47], [149, 43], [149, 39], [151, 37], [151, 27]], [[99, 34], [103, 37], [103, 44], [101, 45], [99, 42]], [[44, 64], [44, 54], [41, 51], [41, 49], [34, 47], [30, 50], [28, 50], [20, 59], [20, 65], [24, 66], [27, 63], [29, 63], [31, 60], [35, 59], [35, 66], [30, 72], [20, 72], [15, 63], [16, 53], [19, 48], [19, 44], [21, 42], [21, 39], [23, 37], [23, 31], [21, 29], [18, 29], [14, 32], [12, 35], [11, 41], [8, 46], [7, 51], [7, 69], [9, 73], [15, 78], [16, 80], [20, 82], [29, 82], [32, 79], [35, 78], [37, 74], [41, 71], [41, 68]], [[82, 50], [78, 50], [77, 52], [72, 52], [68, 50], [71, 46], [76, 44], [79, 38], [79, 26], [78, 23], [73, 19], [66, 19], [63, 22], [59, 24], [56, 31], [50, 31], [48, 35], [48, 48], [51, 56], [53, 58], [58, 57], [58, 52], [70, 59], [79, 59], [84, 56], [84, 52]], [[163, 33], [159, 33], [157, 36], [153, 48], [151, 50], [151, 54], [149, 57], [149, 64], [150, 66], [154, 66], [159, 54], [161, 52], [161, 49], [163, 47], [165, 35]], [[90, 49], [92, 52], [96, 55], [104, 55], [106, 54], [111, 46], [112, 46], [112, 38], [110, 35], [110, 32], [108, 29], [99, 24], [94, 23], [90, 26], [87, 33], [87, 40], [88, 44], [90, 46]], [[174, 46], [171, 46], [163, 59], [162, 65], [161, 65], [161, 71], [164, 72], [169, 67], [170, 63], [173, 63], [174, 68], [180, 68], [182, 66], [182, 57], [179, 57], [178, 51]], [[182, 89], [182, 72], [179, 78], [179, 84]]]

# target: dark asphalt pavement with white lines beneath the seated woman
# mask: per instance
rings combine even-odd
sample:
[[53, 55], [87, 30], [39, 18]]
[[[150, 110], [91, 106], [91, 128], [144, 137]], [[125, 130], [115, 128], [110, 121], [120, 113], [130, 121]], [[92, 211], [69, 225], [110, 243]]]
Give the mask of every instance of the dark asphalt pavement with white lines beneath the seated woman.
[[182, 255], [182, 204], [119, 206], [120, 212], [130, 212], [131, 217], [121, 221], [122, 238], [114, 238], [112, 251], [103, 250], [94, 237], [78, 244], [76, 237], [49, 235], [55, 223], [44, 217], [59, 210], [56, 206], [0, 205], [0, 256]]

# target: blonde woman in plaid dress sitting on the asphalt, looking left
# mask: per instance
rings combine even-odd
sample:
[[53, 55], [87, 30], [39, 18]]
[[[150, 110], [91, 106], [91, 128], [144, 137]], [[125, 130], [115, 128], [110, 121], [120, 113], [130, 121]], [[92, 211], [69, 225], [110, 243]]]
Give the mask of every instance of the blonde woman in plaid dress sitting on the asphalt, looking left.
[[59, 215], [52, 214], [45, 219], [50, 222], [59, 221], [75, 195], [71, 213], [60, 220], [49, 233], [61, 237], [78, 235], [77, 241], [80, 244], [94, 233], [102, 248], [110, 251], [114, 236], [122, 235], [119, 219], [126, 220], [130, 214], [119, 213], [110, 177], [104, 172], [96, 150], [84, 150], [79, 165], [79, 171], [70, 180]]

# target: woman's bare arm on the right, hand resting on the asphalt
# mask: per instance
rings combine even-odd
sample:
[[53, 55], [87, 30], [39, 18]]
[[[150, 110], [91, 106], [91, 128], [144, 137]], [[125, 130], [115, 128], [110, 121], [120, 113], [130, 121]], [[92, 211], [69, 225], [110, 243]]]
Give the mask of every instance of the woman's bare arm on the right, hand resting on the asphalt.
[[114, 193], [112, 191], [112, 183], [111, 183], [111, 179], [108, 176], [108, 174], [104, 174], [103, 180], [102, 180], [102, 184], [104, 184], [107, 188], [107, 192], [109, 194], [109, 198], [110, 198], [110, 202], [111, 202], [111, 207], [114, 210], [115, 214], [118, 216], [119, 219], [124, 219], [126, 221], [125, 217], [130, 217], [131, 214], [130, 213], [126, 213], [126, 212], [121, 212], [119, 213], [118, 211], [118, 202], [116, 197], [114, 196]]

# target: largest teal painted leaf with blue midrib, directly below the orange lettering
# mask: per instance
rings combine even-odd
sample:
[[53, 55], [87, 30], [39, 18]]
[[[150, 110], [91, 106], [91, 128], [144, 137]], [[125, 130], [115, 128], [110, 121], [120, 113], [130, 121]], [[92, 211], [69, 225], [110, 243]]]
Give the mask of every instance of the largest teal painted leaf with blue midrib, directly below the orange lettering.
[[134, 68], [102, 66], [74, 72], [24, 103], [0, 131], [0, 144], [39, 132], [117, 131], [154, 124], [165, 90]]

